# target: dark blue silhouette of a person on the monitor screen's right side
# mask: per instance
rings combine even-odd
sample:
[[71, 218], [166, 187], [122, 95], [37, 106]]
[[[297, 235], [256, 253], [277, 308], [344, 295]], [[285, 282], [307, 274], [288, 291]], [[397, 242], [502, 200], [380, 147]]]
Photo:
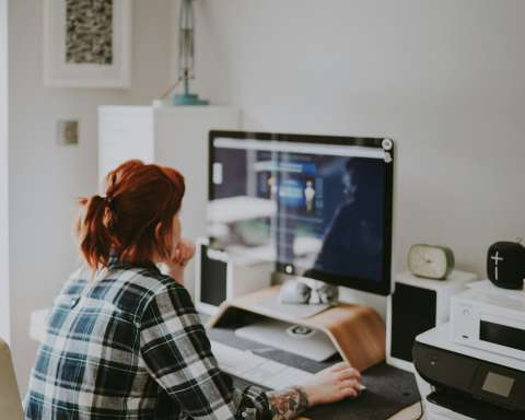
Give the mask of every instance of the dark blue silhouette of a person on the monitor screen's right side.
[[383, 173], [374, 159], [349, 159], [341, 183], [343, 202], [335, 211], [315, 269], [364, 279], [382, 276]]

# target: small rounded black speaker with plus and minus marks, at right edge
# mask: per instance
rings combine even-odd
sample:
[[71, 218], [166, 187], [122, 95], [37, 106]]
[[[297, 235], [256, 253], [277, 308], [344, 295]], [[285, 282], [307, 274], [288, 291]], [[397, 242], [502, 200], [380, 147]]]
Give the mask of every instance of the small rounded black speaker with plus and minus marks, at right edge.
[[503, 289], [523, 289], [525, 247], [517, 242], [497, 242], [487, 254], [490, 281]]

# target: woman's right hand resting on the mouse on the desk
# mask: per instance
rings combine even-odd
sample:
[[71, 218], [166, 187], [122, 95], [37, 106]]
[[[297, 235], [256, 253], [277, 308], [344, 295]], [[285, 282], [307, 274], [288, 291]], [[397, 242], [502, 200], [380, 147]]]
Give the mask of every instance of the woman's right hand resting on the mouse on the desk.
[[308, 405], [336, 402], [361, 394], [361, 374], [346, 362], [334, 364], [301, 385]]

